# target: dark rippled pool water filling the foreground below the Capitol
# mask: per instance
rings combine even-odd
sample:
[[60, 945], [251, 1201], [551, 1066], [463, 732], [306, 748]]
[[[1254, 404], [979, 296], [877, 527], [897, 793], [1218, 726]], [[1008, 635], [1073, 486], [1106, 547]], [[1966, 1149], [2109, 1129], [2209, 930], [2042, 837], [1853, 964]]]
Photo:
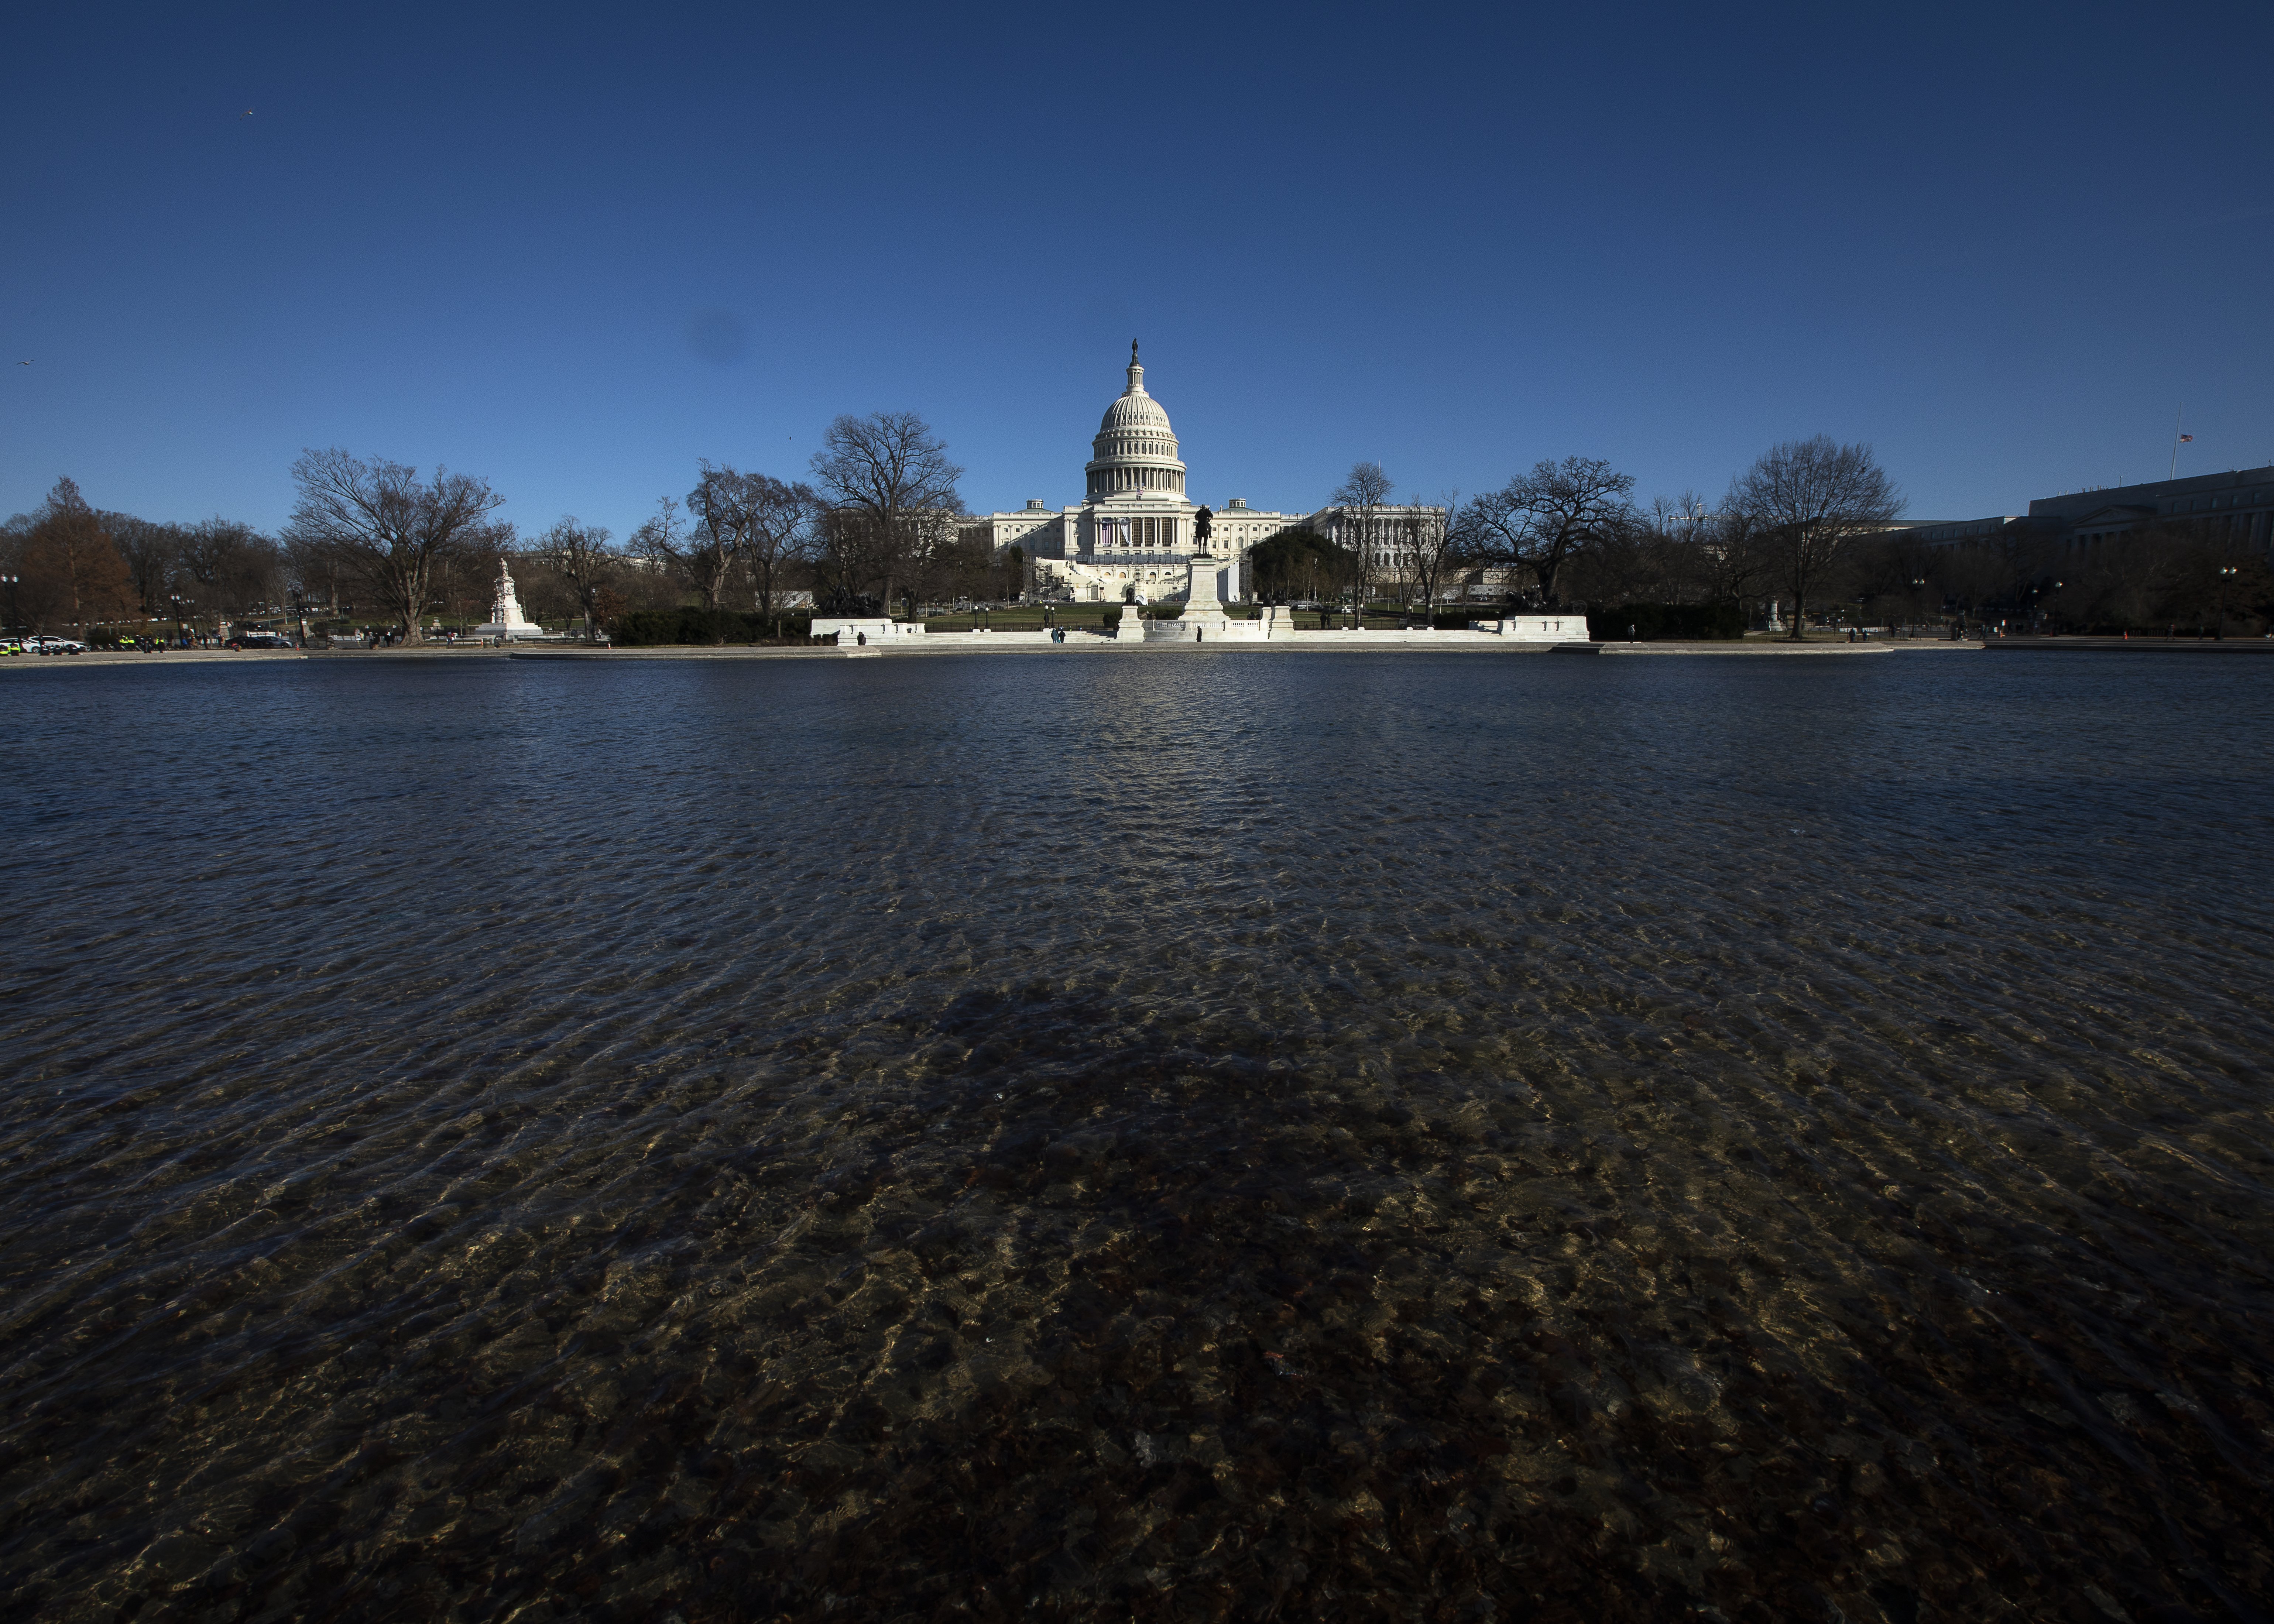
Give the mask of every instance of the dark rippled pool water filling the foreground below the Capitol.
[[2274, 1588], [2274, 660], [0, 680], [14, 1617]]

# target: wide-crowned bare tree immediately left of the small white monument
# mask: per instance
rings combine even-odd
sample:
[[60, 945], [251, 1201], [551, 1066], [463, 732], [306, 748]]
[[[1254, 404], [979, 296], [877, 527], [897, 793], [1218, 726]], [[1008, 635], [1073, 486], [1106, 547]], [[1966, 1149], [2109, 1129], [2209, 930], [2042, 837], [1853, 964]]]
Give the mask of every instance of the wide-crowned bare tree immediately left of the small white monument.
[[309, 450], [291, 469], [300, 500], [284, 537], [302, 560], [332, 564], [418, 644], [418, 621], [434, 603], [439, 569], [512, 544], [493, 521], [505, 503], [471, 473], [434, 471], [432, 484], [400, 462], [359, 462], [337, 446]]

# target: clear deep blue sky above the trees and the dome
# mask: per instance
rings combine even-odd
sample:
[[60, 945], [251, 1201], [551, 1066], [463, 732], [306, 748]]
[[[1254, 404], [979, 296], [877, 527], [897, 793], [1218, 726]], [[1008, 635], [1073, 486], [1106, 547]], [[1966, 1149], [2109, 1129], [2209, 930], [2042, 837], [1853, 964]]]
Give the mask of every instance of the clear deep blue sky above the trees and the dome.
[[1060, 505], [1132, 337], [1217, 503], [1828, 432], [2019, 512], [2181, 400], [2274, 462], [2269, 86], [2263, 2], [25, 7], [0, 514], [346, 446], [623, 535], [880, 407]]

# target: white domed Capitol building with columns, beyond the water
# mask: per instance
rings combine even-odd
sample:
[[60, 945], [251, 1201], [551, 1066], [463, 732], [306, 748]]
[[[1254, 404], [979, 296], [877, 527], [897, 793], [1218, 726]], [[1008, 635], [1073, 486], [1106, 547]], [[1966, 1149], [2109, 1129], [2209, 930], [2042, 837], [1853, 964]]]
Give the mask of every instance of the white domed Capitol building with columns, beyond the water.
[[[1178, 459], [1176, 430], [1160, 400], [1146, 393], [1144, 366], [1130, 343], [1128, 389], [1105, 407], [1098, 437], [1089, 444], [1082, 469], [1082, 503], [1051, 509], [1028, 503], [1021, 512], [987, 514], [973, 521], [996, 557], [1016, 546], [1028, 557], [1030, 589], [1039, 598], [1073, 598], [1078, 603], [1153, 603], [1182, 598], [1189, 566], [1196, 557], [1217, 560], [1217, 598], [1237, 603], [1248, 548], [1276, 530], [1308, 525], [1344, 546], [1339, 514], [1330, 507], [1308, 514], [1283, 514], [1248, 507], [1239, 496], [1221, 512], [1201, 507], [1185, 494], [1185, 464]], [[1408, 507], [1383, 507], [1371, 564], [1383, 573], [1399, 571], [1396, 525]], [[1210, 514], [1212, 537], [1205, 553], [1194, 532], [1201, 514]]]

